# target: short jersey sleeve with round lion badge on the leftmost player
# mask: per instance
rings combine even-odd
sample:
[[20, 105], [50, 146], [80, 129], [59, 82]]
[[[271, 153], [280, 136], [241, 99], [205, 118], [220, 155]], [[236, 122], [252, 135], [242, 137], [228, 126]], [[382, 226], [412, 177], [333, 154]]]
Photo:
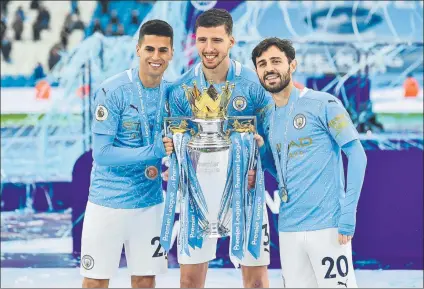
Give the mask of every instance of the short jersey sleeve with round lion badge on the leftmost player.
[[116, 134], [121, 117], [119, 94], [119, 89], [111, 91], [100, 88], [96, 92], [92, 125], [93, 133]]

